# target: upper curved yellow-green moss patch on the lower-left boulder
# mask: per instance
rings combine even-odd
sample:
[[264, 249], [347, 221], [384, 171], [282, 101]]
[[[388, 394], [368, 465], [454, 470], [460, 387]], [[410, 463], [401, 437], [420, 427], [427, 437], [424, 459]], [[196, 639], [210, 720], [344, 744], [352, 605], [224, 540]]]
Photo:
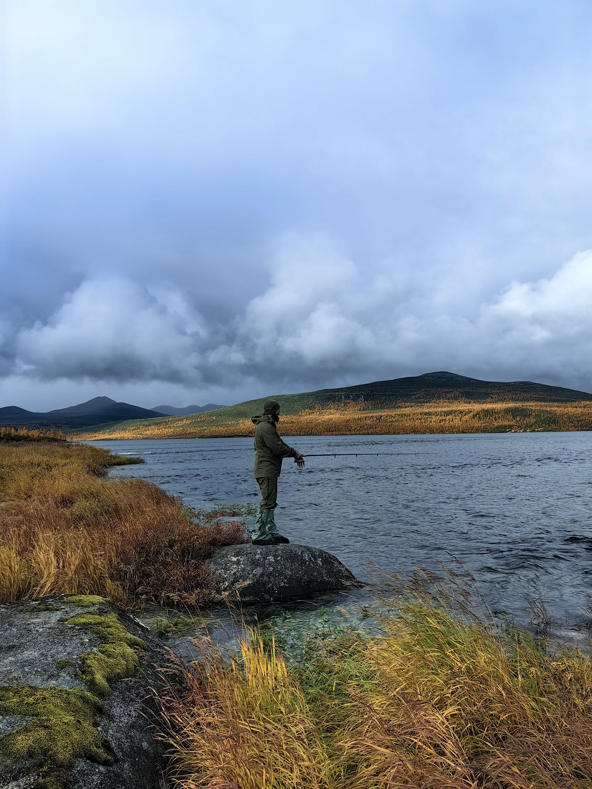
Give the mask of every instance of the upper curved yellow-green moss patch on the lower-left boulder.
[[103, 641], [96, 652], [86, 652], [80, 656], [84, 682], [94, 694], [100, 697], [111, 696], [112, 682], [133, 677], [139, 661], [131, 648], [147, 647], [141, 638], [126, 630], [117, 615], [103, 608], [96, 612], [85, 611], [64, 621], [68, 625], [90, 630]]

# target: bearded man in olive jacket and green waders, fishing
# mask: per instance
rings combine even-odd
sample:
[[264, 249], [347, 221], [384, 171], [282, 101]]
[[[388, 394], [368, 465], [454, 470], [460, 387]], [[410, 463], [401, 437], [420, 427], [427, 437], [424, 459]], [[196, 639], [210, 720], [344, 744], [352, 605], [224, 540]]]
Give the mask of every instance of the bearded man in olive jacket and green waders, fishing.
[[279, 402], [266, 400], [263, 416], [253, 417], [255, 430], [255, 468], [253, 477], [261, 492], [259, 513], [253, 531], [255, 545], [278, 545], [289, 543], [287, 537], [278, 533], [274, 510], [278, 506], [278, 477], [282, 473], [283, 458], [294, 458], [299, 469], [304, 468], [304, 456], [279, 437], [276, 425], [279, 422]]

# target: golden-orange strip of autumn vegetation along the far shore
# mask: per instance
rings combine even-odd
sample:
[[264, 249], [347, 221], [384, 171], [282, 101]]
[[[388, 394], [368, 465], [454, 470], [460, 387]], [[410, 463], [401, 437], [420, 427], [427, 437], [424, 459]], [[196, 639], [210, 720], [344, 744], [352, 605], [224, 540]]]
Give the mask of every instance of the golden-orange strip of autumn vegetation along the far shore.
[[[253, 411], [253, 413], [256, 413]], [[435, 402], [381, 408], [373, 402], [329, 403], [283, 413], [283, 436], [376, 436], [421, 433], [592, 430], [592, 402]], [[77, 439], [172, 439], [253, 436], [250, 418], [233, 409], [189, 417], [118, 422]]]

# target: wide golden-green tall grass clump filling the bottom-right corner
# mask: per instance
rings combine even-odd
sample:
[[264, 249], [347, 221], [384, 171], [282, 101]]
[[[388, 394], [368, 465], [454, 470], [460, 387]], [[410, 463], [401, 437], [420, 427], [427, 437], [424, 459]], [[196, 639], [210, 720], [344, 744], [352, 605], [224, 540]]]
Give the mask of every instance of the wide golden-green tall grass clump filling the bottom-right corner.
[[590, 786], [592, 670], [577, 649], [551, 655], [418, 595], [383, 626], [362, 649], [376, 686], [350, 693], [340, 742], [354, 785]]

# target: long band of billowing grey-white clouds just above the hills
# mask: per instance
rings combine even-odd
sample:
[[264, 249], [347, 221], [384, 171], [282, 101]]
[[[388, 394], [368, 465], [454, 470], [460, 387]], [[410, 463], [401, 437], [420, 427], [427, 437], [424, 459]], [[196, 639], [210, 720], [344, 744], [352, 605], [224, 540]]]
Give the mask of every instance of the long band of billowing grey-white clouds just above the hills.
[[[592, 251], [550, 279], [511, 282], [474, 320], [435, 312], [438, 288], [362, 277], [324, 239], [287, 237], [264, 293], [211, 327], [179, 290], [84, 282], [46, 323], [17, 335], [25, 375], [162, 380], [188, 387], [348, 380], [462, 365], [489, 376], [590, 383]], [[408, 293], [405, 293], [408, 290]], [[512, 375], [513, 373], [513, 375]]]

